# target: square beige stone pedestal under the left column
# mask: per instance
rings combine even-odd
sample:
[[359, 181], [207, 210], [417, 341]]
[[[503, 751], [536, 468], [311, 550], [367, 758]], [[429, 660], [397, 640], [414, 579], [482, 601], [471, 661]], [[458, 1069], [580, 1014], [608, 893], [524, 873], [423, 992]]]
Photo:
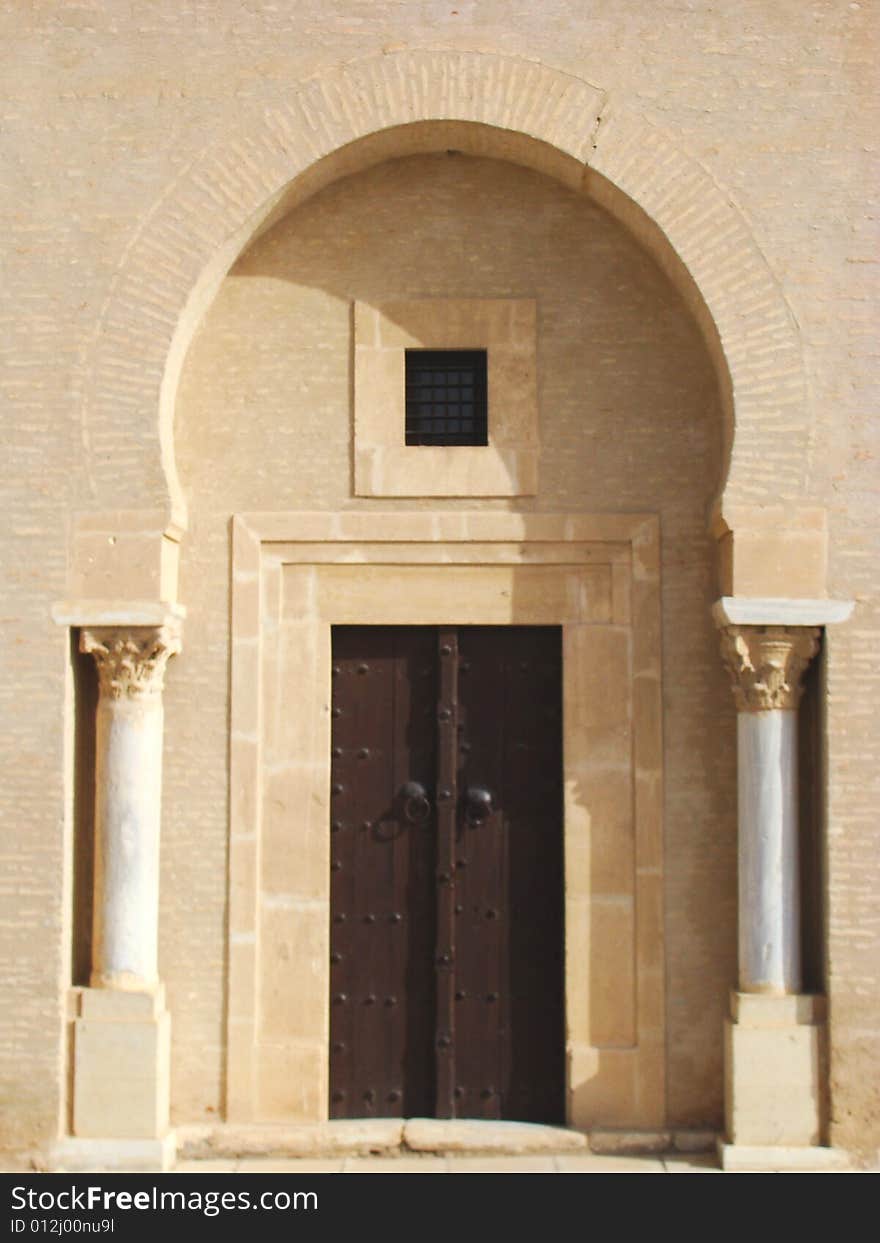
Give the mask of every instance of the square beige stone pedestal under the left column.
[[[164, 989], [77, 991], [73, 1136], [167, 1142], [170, 1016]], [[158, 1151], [158, 1150], [157, 1150]]]

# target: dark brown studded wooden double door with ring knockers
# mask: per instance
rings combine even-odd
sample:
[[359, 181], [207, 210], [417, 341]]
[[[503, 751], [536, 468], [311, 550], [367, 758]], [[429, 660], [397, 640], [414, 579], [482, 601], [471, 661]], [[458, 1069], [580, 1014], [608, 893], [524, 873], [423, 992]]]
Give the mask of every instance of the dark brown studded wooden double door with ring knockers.
[[554, 626], [333, 629], [331, 1117], [564, 1120]]

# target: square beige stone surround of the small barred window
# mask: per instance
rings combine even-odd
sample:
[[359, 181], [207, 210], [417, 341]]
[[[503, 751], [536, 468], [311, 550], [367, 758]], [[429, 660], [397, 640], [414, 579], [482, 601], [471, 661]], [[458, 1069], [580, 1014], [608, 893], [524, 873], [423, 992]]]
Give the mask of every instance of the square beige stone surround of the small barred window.
[[[533, 496], [536, 317], [532, 298], [355, 302], [355, 496]], [[406, 349], [487, 351], [487, 445], [404, 444]]]

